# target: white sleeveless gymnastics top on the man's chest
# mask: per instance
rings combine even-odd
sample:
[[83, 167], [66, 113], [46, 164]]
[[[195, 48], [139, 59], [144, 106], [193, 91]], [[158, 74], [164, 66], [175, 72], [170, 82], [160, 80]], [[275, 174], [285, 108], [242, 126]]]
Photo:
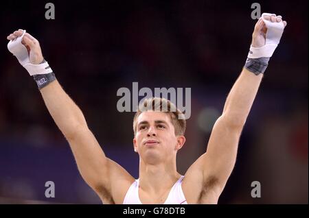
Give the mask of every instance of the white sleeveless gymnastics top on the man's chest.
[[[183, 195], [183, 189], [181, 189], [181, 182], [183, 182], [184, 176], [181, 175], [181, 178], [172, 186], [168, 198], [166, 198], [164, 204], [187, 204], [185, 195]], [[131, 184], [130, 188], [124, 197], [123, 204], [142, 204], [139, 199], [139, 179], [135, 180]]]

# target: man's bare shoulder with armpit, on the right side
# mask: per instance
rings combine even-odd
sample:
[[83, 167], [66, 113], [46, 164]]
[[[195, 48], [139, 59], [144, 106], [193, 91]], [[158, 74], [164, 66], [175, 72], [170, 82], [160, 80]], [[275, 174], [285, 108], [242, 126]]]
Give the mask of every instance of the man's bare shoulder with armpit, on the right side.
[[217, 204], [218, 202], [216, 178], [205, 176], [203, 173], [207, 167], [203, 165], [203, 158], [205, 158], [203, 156], [198, 158], [185, 173], [181, 186], [187, 204]]

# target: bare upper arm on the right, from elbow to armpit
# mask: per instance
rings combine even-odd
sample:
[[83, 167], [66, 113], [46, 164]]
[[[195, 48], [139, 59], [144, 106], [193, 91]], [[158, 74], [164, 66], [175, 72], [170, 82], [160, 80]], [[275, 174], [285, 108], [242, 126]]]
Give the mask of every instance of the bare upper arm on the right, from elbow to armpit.
[[[218, 118], [207, 152], [187, 170], [187, 182], [194, 184], [195, 193], [192, 191], [192, 195], [210, 195], [211, 199], [207, 200], [216, 203], [235, 165], [241, 131], [242, 128], [231, 125], [227, 117], [222, 115]], [[196, 198], [198, 200], [201, 201]]]

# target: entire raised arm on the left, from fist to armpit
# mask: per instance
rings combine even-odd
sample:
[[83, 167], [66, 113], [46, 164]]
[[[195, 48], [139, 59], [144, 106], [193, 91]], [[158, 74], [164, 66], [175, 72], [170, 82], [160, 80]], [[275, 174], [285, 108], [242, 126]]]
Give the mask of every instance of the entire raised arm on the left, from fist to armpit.
[[[114, 184], [126, 187], [133, 181], [133, 178], [117, 163], [106, 158], [95, 136], [89, 130], [82, 111], [65, 93], [54, 74], [50, 73], [52, 70], [49, 66], [45, 66], [44, 69], [38, 68], [44, 62], [38, 40], [21, 30], [10, 34], [8, 40], [11, 40], [8, 45], [10, 51], [30, 75], [34, 75], [34, 80], [38, 84], [49, 113], [69, 142], [82, 178], [104, 202], [119, 202], [123, 191], [117, 187], [114, 188]], [[21, 40], [27, 48], [25, 54], [22, 51], [23, 47], [16, 44], [17, 40]], [[36, 74], [42, 72], [45, 74]]]

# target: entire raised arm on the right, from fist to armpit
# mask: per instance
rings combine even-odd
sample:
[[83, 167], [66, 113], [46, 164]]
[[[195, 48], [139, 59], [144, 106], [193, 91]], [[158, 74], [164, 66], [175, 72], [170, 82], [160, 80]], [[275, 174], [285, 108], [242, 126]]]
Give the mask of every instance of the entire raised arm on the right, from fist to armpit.
[[[277, 24], [282, 26], [277, 27]], [[270, 29], [273, 28], [272, 25], [277, 28], [275, 31], [278, 32], [281, 28], [283, 32], [286, 21], [282, 22], [281, 16], [266, 14], [264, 20], [260, 19], [256, 23], [247, 62], [231, 88], [222, 115], [214, 124], [207, 152], [198, 158], [187, 171], [190, 177], [201, 184], [196, 186], [196, 191], [203, 193], [203, 197], [196, 201], [216, 204], [231, 175], [236, 162], [242, 128], [258, 93], [268, 60], [277, 47], [277, 45], [268, 44], [268, 36], [271, 37], [271, 35], [267, 35], [267, 32], [272, 31]], [[276, 37], [280, 39], [282, 32]], [[275, 42], [275, 39], [271, 39]], [[277, 38], [277, 43], [279, 39]]]

